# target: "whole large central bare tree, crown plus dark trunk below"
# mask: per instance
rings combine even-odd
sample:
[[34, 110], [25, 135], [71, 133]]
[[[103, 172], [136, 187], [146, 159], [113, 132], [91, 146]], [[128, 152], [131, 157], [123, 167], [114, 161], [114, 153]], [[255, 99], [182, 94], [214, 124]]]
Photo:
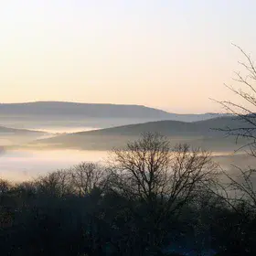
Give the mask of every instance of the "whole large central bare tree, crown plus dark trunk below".
[[187, 144], [172, 147], [158, 133], [144, 133], [125, 148], [114, 149], [111, 162], [113, 192], [147, 208], [151, 247], [163, 242], [167, 219], [218, 176], [217, 165], [207, 151], [191, 149]]

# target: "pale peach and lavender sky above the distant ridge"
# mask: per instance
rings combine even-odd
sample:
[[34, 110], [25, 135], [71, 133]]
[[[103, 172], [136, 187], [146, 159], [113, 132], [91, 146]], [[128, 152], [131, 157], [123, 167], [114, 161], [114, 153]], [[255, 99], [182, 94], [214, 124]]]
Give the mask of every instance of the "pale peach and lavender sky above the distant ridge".
[[256, 59], [254, 0], [8, 0], [0, 102], [143, 104], [219, 112], [237, 44]]

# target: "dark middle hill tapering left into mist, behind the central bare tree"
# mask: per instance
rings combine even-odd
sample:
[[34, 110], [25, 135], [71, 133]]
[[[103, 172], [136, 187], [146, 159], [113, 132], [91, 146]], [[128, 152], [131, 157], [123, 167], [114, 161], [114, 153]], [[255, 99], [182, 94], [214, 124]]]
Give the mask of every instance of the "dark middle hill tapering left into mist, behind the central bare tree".
[[[234, 138], [225, 138], [225, 134], [215, 128], [238, 128], [244, 123], [231, 117], [220, 117], [207, 121], [185, 123], [177, 121], [159, 121], [124, 125], [91, 132], [69, 133], [54, 138], [39, 140], [37, 144], [64, 148], [82, 148], [94, 150], [111, 149], [121, 146], [128, 140], [136, 139], [141, 133], [157, 132], [167, 136], [174, 143], [189, 143], [211, 150], [234, 149]], [[244, 143], [241, 142], [241, 143]]]

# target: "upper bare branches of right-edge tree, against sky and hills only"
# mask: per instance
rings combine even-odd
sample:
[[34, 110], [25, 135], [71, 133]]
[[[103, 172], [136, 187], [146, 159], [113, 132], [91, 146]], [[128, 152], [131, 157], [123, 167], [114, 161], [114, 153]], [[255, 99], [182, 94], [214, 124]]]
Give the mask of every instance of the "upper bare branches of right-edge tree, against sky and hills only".
[[236, 119], [240, 120], [238, 127], [219, 127], [219, 130], [239, 138], [248, 140], [244, 145], [250, 146], [251, 154], [254, 155], [256, 143], [256, 67], [251, 55], [246, 53], [239, 46], [238, 48], [244, 57], [244, 61], [239, 61], [241, 71], [235, 71], [235, 78], [233, 79], [237, 84], [225, 86], [229, 91], [238, 95], [241, 102], [235, 101], [217, 101], [228, 113], [231, 113]]

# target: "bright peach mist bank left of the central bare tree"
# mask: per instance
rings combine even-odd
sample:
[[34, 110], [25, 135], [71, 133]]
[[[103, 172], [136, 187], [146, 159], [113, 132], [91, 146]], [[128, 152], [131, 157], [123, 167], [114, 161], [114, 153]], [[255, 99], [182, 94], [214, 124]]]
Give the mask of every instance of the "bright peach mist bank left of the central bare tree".
[[104, 151], [80, 150], [5, 150], [0, 154], [0, 176], [8, 180], [25, 181], [82, 161], [101, 162]]

